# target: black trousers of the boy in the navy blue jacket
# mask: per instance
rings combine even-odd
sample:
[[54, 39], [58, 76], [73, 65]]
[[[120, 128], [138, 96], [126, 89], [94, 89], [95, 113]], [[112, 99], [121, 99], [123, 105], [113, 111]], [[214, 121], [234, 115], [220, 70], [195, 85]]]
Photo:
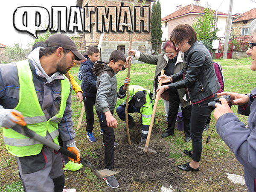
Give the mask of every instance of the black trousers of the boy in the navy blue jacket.
[[84, 99], [84, 111], [86, 116], [86, 131], [92, 132], [93, 131], [93, 124], [94, 124], [94, 113], [93, 113], [93, 105], [95, 105], [96, 97], [85, 97]]

